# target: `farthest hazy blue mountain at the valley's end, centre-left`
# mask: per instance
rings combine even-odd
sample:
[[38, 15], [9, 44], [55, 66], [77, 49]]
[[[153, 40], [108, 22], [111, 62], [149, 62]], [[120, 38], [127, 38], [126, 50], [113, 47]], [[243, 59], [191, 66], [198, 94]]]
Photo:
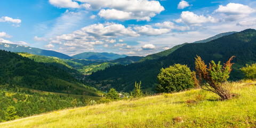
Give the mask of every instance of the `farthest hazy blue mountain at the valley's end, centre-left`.
[[124, 58], [127, 55], [119, 55], [115, 53], [108, 53], [108, 52], [84, 52], [80, 54], [73, 55], [72, 57], [75, 59], [87, 59], [87, 60], [98, 60], [98, 59], [103, 59], [103, 60], [115, 60], [118, 58]]

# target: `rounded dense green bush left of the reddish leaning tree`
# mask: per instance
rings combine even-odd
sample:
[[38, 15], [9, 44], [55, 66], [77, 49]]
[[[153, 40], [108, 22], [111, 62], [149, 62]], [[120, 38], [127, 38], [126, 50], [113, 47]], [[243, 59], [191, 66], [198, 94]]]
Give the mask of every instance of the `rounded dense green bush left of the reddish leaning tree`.
[[179, 92], [194, 87], [191, 70], [186, 65], [175, 64], [169, 68], [162, 68], [157, 76], [160, 84], [157, 92]]

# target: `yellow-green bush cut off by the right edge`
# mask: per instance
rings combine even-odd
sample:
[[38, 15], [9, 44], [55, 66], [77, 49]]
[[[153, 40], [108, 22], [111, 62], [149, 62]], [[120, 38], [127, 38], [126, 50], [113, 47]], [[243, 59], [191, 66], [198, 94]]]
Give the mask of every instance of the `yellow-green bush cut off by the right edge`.
[[240, 68], [241, 71], [245, 74], [247, 79], [255, 79], [256, 78], [256, 63], [252, 65], [247, 65], [246, 67]]

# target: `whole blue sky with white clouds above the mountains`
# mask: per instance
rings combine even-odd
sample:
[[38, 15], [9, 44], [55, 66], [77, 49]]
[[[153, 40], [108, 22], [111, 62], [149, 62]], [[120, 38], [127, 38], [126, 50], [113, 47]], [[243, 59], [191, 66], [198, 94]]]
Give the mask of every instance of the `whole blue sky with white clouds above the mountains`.
[[256, 27], [256, 1], [1, 0], [0, 42], [148, 55]]

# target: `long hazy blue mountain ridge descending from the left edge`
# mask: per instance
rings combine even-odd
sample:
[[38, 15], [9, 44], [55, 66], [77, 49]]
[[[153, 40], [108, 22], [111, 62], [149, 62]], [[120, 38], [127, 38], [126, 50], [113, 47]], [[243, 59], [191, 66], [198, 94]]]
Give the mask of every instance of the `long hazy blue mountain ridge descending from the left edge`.
[[11, 51], [11, 52], [27, 52], [35, 55], [46, 55], [46, 56], [58, 57], [62, 59], [72, 59], [71, 57], [63, 53], [59, 53], [51, 50], [42, 50], [35, 47], [23, 46], [23, 45], [17, 45], [17, 44], [7, 44], [7, 43], [0, 42], [0, 50]]

